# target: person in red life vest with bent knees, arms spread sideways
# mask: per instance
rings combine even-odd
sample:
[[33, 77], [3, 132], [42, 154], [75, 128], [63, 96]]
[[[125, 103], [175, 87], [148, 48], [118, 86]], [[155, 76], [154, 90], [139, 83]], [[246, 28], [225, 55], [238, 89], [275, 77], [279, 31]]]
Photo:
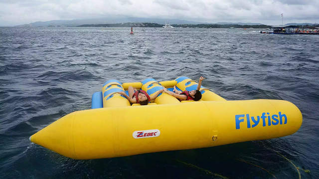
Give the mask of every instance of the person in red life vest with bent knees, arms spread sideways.
[[[118, 92], [119, 94], [125, 96], [131, 104], [134, 103], [140, 103], [140, 105], [147, 105], [151, 100], [154, 100], [159, 96], [161, 92], [163, 92], [163, 89], [158, 91], [154, 96], [150, 97], [146, 91], [143, 90], [136, 90], [132, 86], [129, 86], [128, 88], [129, 96], [126, 95], [125, 92]], [[132, 96], [132, 97], [131, 97]]]

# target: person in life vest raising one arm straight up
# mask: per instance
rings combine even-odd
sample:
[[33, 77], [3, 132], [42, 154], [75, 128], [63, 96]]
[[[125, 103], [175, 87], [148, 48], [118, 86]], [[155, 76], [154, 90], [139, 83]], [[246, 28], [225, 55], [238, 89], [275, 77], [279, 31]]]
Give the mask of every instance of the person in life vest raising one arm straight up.
[[205, 79], [205, 78], [202, 76], [199, 78], [196, 90], [181, 92], [181, 91], [176, 89], [176, 86], [174, 86], [173, 92], [167, 90], [166, 88], [164, 89], [164, 92], [177, 98], [179, 101], [184, 101], [184, 100], [198, 101], [201, 99], [201, 93], [200, 93], [199, 89], [201, 86], [201, 81], [203, 81], [203, 79]]

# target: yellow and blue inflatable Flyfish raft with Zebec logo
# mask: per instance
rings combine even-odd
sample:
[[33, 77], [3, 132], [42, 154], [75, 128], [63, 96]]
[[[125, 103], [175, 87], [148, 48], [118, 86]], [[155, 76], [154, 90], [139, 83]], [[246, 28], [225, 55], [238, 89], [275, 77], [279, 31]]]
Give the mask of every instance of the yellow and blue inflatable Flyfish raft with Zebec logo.
[[160, 151], [206, 148], [283, 137], [302, 124], [300, 110], [284, 100], [227, 101], [201, 87], [199, 101], [179, 101], [162, 92], [154, 102], [131, 105], [129, 86], [151, 97], [164, 87], [195, 90], [187, 77], [157, 82], [109, 80], [92, 96], [92, 109], [72, 112], [30, 137], [30, 141], [72, 159], [99, 159]]

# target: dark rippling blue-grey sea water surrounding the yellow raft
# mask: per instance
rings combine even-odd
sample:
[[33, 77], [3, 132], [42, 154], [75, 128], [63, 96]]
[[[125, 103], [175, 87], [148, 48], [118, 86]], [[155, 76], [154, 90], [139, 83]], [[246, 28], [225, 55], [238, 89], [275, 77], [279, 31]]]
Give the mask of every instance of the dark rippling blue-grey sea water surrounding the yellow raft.
[[[0, 27], [0, 179], [318, 179], [319, 35], [260, 30]], [[270, 140], [98, 160], [28, 140], [89, 109], [109, 79], [201, 75], [227, 100], [291, 101], [302, 127]]]

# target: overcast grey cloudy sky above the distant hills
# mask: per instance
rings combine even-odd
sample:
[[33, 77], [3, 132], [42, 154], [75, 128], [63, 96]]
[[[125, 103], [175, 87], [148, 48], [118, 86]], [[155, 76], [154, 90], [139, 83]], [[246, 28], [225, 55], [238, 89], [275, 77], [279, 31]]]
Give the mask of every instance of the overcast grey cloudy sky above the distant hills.
[[319, 23], [319, 0], [0, 0], [0, 26], [108, 15], [201, 22]]

